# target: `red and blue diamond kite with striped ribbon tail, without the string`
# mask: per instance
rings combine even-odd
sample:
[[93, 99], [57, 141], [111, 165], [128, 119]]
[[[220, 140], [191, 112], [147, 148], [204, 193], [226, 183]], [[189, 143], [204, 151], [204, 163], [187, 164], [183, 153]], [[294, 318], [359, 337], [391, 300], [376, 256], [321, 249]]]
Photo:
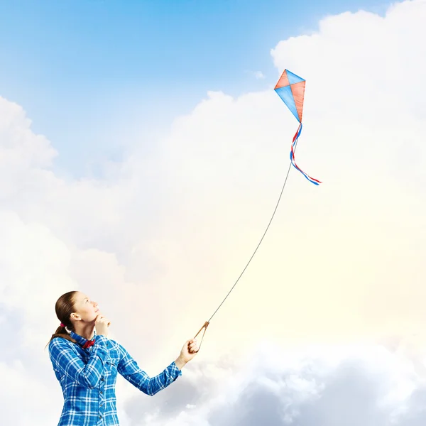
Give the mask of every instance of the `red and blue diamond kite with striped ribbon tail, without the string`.
[[311, 178], [307, 175], [295, 162], [295, 149], [300, 133], [302, 133], [302, 113], [303, 113], [303, 99], [305, 98], [305, 83], [298, 75], [293, 74], [288, 70], [284, 70], [283, 74], [278, 80], [275, 86], [275, 92], [278, 96], [283, 99], [283, 102], [287, 105], [288, 109], [293, 112], [293, 115], [299, 121], [299, 127], [293, 137], [293, 143], [291, 144], [290, 160], [291, 164], [302, 173], [314, 185], [320, 185], [320, 180]]

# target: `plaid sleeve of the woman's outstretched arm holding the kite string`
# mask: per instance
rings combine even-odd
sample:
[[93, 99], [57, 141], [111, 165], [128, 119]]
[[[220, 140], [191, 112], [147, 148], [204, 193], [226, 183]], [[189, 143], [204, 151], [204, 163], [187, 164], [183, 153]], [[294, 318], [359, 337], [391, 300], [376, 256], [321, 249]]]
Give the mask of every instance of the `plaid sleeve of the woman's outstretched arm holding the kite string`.
[[129, 381], [133, 386], [153, 396], [162, 389], [173, 383], [179, 376], [182, 376], [182, 371], [176, 366], [175, 361], [163, 370], [162, 373], [154, 377], [149, 377], [143, 371], [136, 361], [131, 357], [128, 351], [121, 344], [118, 344], [120, 351], [120, 361], [117, 370], [126, 381]]

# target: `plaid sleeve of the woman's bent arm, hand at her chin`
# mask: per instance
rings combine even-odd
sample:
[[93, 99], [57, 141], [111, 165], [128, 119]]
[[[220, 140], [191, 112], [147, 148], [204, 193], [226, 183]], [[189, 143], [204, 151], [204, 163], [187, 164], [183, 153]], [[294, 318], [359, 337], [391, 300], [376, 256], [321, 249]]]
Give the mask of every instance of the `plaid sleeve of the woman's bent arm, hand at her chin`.
[[108, 354], [107, 337], [96, 337], [87, 364], [84, 364], [70, 343], [72, 342], [61, 337], [55, 337], [50, 342], [49, 356], [53, 368], [85, 388], [96, 388], [104, 373], [104, 360]]

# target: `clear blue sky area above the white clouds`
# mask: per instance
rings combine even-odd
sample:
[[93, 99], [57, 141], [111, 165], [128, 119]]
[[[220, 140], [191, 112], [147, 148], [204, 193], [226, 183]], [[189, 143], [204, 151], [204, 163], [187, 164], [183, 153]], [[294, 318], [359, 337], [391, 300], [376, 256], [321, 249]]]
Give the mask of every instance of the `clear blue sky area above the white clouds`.
[[[238, 96], [273, 84], [270, 50], [328, 14], [379, 0], [0, 0], [0, 96], [52, 141], [57, 172], [99, 175], [208, 90]], [[253, 72], [266, 78], [257, 80]], [[136, 136], [137, 135], [137, 136]], [[135, 139], [137, 138], [137, 139]]]

